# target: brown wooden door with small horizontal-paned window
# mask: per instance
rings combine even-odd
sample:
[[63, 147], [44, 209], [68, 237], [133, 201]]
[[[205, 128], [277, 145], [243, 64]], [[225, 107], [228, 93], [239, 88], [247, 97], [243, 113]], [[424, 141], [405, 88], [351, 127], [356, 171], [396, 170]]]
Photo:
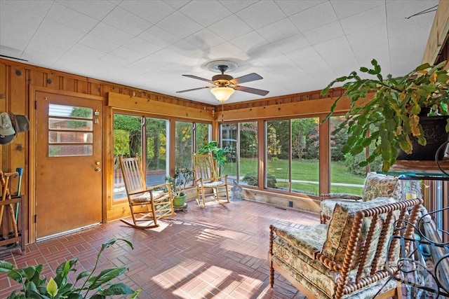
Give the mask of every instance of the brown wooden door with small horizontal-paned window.
[[98, 100], [36, 92], [36, 238], [102, 221]]

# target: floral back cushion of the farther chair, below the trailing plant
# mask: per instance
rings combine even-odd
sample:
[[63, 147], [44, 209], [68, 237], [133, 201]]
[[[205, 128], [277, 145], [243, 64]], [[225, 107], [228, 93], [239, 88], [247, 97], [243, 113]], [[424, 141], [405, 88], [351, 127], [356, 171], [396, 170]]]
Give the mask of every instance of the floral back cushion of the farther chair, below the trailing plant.
[[[396, 189], [396, 185], [398, 185], [398, 190]], [[397, 194], [398, 192], [401, 193], [400, 185], [396, 176], [386, 176], [384, 174], [370, 172], [366, 175], [362, 200], [366, 202], [377, 197], [400, 196], [400, 194]], [[401, 197], [396, 198], [396, 200], [401, 200]]]

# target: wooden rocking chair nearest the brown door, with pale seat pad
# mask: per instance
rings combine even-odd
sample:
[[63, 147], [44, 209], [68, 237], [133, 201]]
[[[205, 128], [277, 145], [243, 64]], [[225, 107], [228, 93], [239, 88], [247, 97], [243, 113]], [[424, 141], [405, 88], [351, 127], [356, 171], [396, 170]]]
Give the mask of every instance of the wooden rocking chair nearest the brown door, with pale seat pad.
[[142, 165], [138, 157], [119, 157], [121, 173], [133, 222], [121, 219], [133, 228], [156, 228], [159, 218], [175, 216], [170, 183], [147, 187]]

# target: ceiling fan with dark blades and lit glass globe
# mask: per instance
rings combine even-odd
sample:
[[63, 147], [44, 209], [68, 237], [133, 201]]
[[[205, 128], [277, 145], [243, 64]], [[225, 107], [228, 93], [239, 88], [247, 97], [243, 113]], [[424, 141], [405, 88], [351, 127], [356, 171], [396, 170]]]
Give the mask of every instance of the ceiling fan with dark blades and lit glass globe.
[[201, 81], [206, 81], [208, 83], [213, 84], [213, 86], [205, 86], [202, 88], [192, 88], [189, 90], [180, 90], [177, 92], [189, 92], [193, 90], [201, 90], [204, 88], [212, 88], [210, 92], [215, 95], [218, 101], [225, 102], [229, 97], [234, 93], [234, 90], [240, 90], [244, 92], [253, 93], [255, 95], [267, 95], [267, 90], [260, 90], [257, 88], [248, 88], [246, 86], [237, 85], [240, 83], [246, 83], [250, 81], [256, 81], [263, 79], [262, 76], [257, 75], [255, 73], [251, 73], [245, 76], [241, 76], [239, 78], [233, 78], [232, 76], [226, 75], [225, 71], [228, 69], [228, 66], [226, 64], [219, 64], [216, 66], [217, 70], [219, 70], [222, 74], [215, 75], [212, 77], [212, 80], [201, 78], [199, 76], [194, 75], [182, 75], [189, 78], [198, 79]]

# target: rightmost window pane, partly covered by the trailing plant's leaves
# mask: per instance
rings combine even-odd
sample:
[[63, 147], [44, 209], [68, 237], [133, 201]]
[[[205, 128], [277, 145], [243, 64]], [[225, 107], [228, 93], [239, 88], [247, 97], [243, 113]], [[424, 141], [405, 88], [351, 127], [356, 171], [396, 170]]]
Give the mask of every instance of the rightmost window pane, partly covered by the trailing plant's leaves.
[[344, 116], [330, 118], [330, 192], [361, 195], [366, 167], [360, 167], [358, 163], [365, 159], [366, 153], [360, 153], [355, 157], [342, 153], [348, 134], [346, 130], [335, 131], [335, 129], [343, 120]]

